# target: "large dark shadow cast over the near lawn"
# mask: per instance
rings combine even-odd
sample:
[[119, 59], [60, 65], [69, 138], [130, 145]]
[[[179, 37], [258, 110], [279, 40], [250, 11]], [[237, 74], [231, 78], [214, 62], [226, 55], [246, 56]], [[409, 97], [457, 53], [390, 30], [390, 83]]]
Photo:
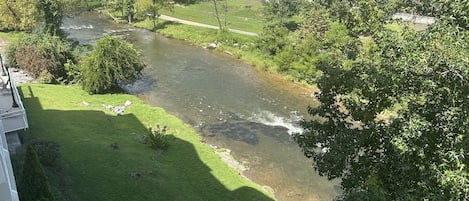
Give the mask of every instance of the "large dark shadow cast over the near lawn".
[[19, 89], [30, 123], [25, 141], [59, 143], [74, 200], [272, 200], [235, 171], [210, 168], [219, 163], [203, 161], [204, 150], [183, 139], [170, 135], [167, 151], [150, 149], [140, 141], [147, 128], [133, 114], [44, 109], [36, 87]]

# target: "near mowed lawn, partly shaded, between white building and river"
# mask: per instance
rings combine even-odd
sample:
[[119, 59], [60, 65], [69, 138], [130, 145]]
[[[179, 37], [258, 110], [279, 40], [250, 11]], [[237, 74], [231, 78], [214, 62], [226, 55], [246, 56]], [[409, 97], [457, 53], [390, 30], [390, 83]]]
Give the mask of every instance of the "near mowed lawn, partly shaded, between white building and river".
[[[25, 142], [60, 144], [74, 200], [272, 200], [222, 162], [189, 125], [135, 96], [88, 95], [77, 86], [43, 84], [19, 90], [30, 124]], [[133, 104], [121, 116], [102, 107], [127, 100]], [[169, 127], [164, 152], [141, 143], [140, 136], [157, 124]]]

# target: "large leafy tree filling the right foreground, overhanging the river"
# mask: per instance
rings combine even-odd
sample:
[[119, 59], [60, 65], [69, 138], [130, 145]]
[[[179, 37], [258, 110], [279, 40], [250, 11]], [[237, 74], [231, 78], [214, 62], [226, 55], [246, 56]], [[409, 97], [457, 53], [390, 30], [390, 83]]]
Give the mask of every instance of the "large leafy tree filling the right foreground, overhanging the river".
[[320, 106], [294, 139], [343, 200], [469, 199], [469, 33], [374, 35], [355, 62], [321, 61]]

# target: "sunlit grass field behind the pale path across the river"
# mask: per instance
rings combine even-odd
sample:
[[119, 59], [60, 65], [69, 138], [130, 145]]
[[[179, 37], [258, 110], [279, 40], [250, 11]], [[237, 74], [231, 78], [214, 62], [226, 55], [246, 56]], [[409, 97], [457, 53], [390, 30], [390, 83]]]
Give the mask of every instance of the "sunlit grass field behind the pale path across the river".
[[[223, 4], [225, 1], [217, 1], [218, 13], [222, 25], [224, 25]], [[164, 10], [162, 14], [176, 18], [218, 26], [215, 17], [215, 9], [212, 1], [205, 1], [189, 5], [176, 5], [173, 12]], [[264, 24], [262, 3], [253, 0], [229, 0], [226, 12], [227, 26], [230, 29], [238, 29], [254, 33], [261, 33]]]

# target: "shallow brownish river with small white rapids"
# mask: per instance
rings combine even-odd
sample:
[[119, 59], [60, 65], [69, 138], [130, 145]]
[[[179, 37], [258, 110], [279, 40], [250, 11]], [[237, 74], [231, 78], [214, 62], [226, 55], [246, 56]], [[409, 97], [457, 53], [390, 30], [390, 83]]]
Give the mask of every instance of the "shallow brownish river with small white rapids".
[[115, 24], [87, 13], [63, 24], [71, 38], [92, 43], [121, 34], [143, 53], [143, 78], [129, 86], [192, 125], [204, 141], [232, 150], [243, 174], [270, 186], [279, 200], [332, 200], [337, 182], [320, 177], [290, 138], [313, 104], [311, 90], [256, 70], [228, 55]]

